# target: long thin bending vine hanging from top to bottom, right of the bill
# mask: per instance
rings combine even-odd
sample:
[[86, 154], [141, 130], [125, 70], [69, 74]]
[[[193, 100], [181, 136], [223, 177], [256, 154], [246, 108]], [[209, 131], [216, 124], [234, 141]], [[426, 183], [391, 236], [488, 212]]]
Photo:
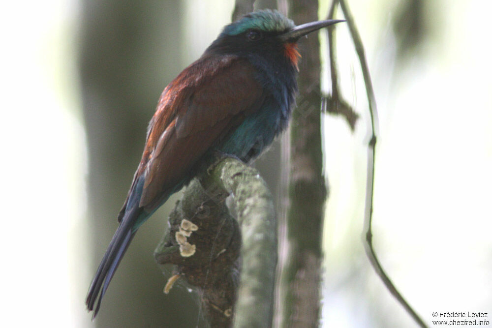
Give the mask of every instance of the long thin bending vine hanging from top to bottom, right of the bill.
[[368, 143], [368, 167], [367, 167], [367, 187], [366, 187], [366, 208], [364, 212], [364, 231], [365, 231], [365, 249], [369, 257], [369, 261], [376, 271], [377, 275], [381, 278], [386, 288], [390, 291], [395, 298], [398, 299], [403, 308], [410, 314], [410, 316], [415, 320], [415, 322], [420, 327], [427, 327], [420, 316], [413, 310], [413, 308], [408, 304], [408, 302], [401, 296], [400, 292], [396, 289], [395, 285], [391, 282], [390, 278], [386, 272], [381, 267], [379, 260], [377, 259], [376, 253], [374, 252], [374, 247], [372, 246], [372, 206], [373, 206], [373, 194], [374, 194], [374, 161], [376, 155], [376, 139], [379, 135], [379, 127], [377, 121], [377, 108], [376, 100], [374, 97], [374, 90], [372, 88], [372, 82], [369, 76], [369, 68], [367, 64], [367, 59], [364, 51], [364, 46], [362, 44], [361, 37], [357, 28], [355, 27], [354, 19], [350, 13], [345, 0], [338, 0], [340, 7], [343, 11], [343, 15], [347, 20], [348, 28], [352, 40], [354, 41], [355, 50], [359, 57], [361, 63], [362, 74], [364, 75], [364, 83], [366, 85], [366, 92], [369, 101], [369, 113], [371, 122], [371, 137]]

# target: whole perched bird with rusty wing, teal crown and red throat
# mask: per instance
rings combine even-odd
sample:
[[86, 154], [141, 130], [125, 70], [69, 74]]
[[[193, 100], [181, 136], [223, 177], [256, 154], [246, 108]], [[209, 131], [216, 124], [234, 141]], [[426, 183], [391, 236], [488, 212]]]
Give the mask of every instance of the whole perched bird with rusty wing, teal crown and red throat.
[[277, 10], [251, 12], [226, 25], [164, 89], [119, 226], [86, 297], [92, 319], [135, 233], [170, 195], [217, 156], [251, 161], [287, 127], [297, 93], [297, 42], [338, 22], [296, 26]]

